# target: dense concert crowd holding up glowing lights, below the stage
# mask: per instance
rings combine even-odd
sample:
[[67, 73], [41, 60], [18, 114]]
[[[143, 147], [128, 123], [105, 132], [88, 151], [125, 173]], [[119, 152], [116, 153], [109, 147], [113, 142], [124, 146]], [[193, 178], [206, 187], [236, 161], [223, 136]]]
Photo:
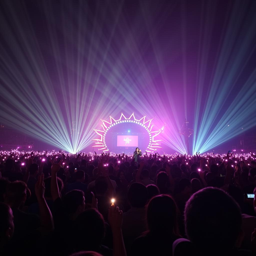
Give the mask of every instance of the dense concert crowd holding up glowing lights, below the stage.
[[0, 152], [0, 255], [254, 255], [256, 156]]

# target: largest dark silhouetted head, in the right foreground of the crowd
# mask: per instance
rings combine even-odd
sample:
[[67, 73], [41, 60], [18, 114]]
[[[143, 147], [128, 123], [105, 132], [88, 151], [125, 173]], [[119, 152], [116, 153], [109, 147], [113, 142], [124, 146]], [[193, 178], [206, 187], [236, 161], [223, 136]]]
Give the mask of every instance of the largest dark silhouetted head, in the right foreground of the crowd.
[[234, 248], [241, 234], [241, 223], [238, 204], [219, 188], [201, 189], [186, 203], [187, 237], [197, 250], [208, 255]]

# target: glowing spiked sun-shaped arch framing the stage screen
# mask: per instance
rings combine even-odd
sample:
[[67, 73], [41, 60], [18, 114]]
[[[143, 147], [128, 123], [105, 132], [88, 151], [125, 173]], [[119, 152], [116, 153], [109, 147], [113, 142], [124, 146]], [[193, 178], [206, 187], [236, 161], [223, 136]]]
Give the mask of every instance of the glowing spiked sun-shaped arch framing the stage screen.
[[117, 120], [115, 120], [112, 116], [109, 116], [109, 118], [110, 118], [109, 121], [100, 119], [102, 121], [100, 130], [93, 129], [95, 133], [99, 135], [99, 138], [93, 139], [93, 141], [95, 141], [94, 142], [95, 145], [93, 147], [98, 147], [99, 150], [102, 150], [104, 152], [109, 151], [108, 145], [106, 145], [105, 137], [106, 137], [106, 134], [111, 129], [111, 127], [122, 124], [122, 123], [134, 123], [143, 127], [149, 135], [149, 141], [148, 141], [146, 152], [153, 153], [157, 150], [157, 148], [162, 148], [160, 146], [161, 144], [158, 143], [162, 140], [156, 140], [156, 137], [163, 130], [154, 129], [155, 125], [152, 124], [153, 119], [146, 121], [146, 116], [143, 116], [141, 119], [136, 119], [134, 116], [134, 113], [132, 113], [129, 118], [126, 118], [123, 113], [121, 113], [120, 118]]

